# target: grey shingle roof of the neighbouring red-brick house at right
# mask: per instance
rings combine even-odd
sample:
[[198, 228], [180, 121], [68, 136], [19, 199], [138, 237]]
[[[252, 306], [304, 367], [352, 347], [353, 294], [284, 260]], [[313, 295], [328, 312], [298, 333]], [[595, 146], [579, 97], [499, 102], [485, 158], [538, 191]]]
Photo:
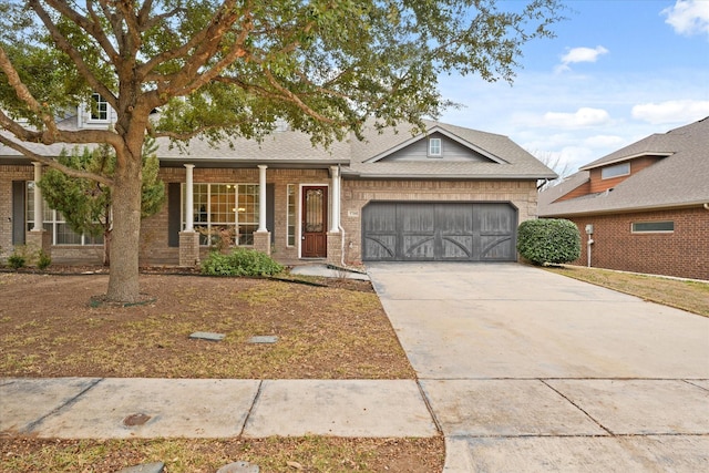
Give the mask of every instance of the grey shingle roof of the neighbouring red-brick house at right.
[[650, 135], [582, 169], [641, 155], [668, 157], [629, 176], [610, 192], [554, 203], [578, 185], [571, 187], [574, 182], [584, 176], [587, 178], [588, 171], [580, 171], [566, 187], [552, 187], [540, 193], [540, 216], [629, 212], [709, 203], [709, 117], [665, 134]]

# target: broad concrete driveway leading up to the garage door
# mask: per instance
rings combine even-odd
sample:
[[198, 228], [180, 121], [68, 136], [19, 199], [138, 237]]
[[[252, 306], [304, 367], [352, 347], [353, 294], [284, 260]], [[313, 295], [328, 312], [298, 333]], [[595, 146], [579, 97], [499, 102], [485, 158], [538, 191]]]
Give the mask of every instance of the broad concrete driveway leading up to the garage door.
[[517, 264], [369, 274], [445, 472], [709, 471], [709, 319]]

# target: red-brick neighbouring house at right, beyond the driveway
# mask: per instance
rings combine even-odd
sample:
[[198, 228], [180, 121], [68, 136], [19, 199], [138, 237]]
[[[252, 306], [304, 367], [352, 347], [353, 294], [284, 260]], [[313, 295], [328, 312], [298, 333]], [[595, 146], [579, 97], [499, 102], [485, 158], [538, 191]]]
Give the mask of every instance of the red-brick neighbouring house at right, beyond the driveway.
[[590, 266], [709, 280], [709, 117], [582, 167], [540, 193], [540, 216], [576, 223], [577, 265], [590, 246]]

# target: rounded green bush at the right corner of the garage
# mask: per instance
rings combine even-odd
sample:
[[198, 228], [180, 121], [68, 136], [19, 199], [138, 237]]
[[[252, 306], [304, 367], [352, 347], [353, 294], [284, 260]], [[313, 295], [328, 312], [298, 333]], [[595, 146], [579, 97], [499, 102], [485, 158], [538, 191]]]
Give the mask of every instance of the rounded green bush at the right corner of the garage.
[[517, 251], [533, 265], [569, 263], [580, 256], [580, 234], [563, 218], [526, 220], [517, 229]]

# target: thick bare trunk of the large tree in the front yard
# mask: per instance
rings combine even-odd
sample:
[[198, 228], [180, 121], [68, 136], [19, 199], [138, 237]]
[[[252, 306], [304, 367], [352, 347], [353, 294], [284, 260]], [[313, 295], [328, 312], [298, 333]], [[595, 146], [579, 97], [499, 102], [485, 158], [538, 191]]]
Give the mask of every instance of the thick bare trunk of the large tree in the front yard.
[[117, 152], [111, 232], [111, 271], [106, 299], [120, 302], [141, 300], [138, 285], [138, 248], [141, 238], [142, 137], [123, 156]]

